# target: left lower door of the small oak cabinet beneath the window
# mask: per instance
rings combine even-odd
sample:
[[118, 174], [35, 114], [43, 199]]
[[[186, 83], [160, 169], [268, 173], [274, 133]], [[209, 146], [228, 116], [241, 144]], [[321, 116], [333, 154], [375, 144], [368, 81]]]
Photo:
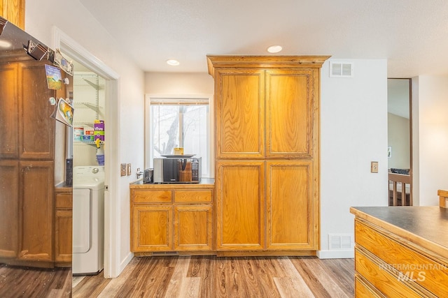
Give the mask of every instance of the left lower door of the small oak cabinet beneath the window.
[[132, 251], [172, 251], [172, 206], [134, 206]]

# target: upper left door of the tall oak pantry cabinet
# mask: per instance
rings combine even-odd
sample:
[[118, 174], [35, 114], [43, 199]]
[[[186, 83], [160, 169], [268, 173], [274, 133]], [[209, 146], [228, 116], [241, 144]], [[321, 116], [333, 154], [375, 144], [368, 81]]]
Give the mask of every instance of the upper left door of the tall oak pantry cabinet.
[[265, 156], [263, 70], [216, 72], [216, 158]]

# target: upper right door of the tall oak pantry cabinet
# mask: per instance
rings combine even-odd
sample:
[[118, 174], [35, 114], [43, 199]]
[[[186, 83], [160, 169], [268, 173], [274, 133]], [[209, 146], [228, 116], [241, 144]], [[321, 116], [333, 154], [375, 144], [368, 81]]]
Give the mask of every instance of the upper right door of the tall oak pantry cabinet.
[[318, 70], [266, 70], [267, 158], [313, 156], [313, 142], [318, 140], [315, 73]]

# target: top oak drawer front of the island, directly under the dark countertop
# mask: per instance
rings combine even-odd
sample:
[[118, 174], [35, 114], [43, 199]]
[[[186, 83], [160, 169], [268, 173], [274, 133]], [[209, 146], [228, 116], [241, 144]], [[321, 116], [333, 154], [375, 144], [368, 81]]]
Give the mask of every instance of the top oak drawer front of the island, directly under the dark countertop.
[[[355, 221], [356, 244], [377, 255], [390, 267], [413, 276], [416, 283], [439, 297], [448, 297], [448, 265], [436, 262], [369, 226]], [[405, 241], [405, 240], [403, 240]]]

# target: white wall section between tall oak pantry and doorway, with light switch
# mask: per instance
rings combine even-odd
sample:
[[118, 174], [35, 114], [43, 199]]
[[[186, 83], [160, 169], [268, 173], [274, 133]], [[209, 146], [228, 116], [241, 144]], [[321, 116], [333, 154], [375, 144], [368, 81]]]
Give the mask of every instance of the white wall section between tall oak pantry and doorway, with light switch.
[[[347, 61], [347, 60], [344, 60]], [[328, 234], [353, 237], [353, 206], [387, 206], [387, 62], [350, 60], [353, 78], [321, 71], [321, 251], [319, 258], [353, 257], [330, 251]], [[379, 172], [370, 172], [370, 162]]]

